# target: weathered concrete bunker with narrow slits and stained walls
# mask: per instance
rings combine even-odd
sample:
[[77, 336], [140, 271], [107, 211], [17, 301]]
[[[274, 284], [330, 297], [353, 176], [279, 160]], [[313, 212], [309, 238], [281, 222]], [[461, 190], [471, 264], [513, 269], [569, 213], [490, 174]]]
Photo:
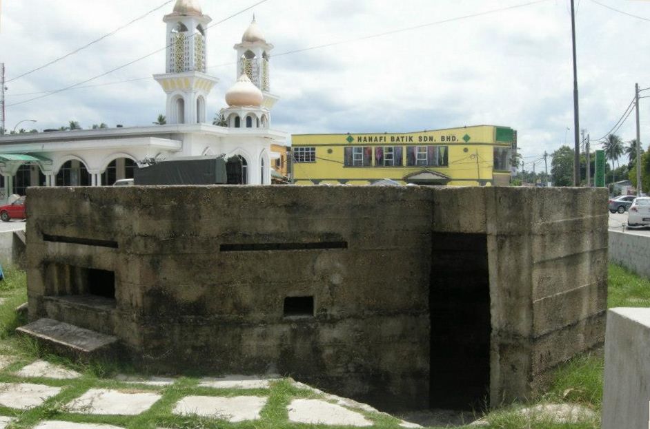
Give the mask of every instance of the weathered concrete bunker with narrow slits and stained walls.
[[[429, 375], [474, 351], [489, 372], [474, 395], [498, 404], [602, 344], [604, 190], [28, 192], [30, 318], [117, 335], [152, 366], [277, 371], [418, 408], [440, 389]], [[115, 273], [115, 300], [88, 300], [86, 269]], [[286, 317], [307, 296], [313, 317]]]

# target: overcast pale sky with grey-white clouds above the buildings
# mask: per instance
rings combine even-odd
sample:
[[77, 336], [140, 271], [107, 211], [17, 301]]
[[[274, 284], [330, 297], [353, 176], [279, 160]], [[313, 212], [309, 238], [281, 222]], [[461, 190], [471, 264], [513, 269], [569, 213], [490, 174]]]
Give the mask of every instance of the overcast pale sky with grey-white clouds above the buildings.
[[[201, 3], [216, 22], [257, 1]], [[224, 107], [224, 92], [236, 78], [233, 45], [253, 12], [277, 55], [529, 1], [267, 0], [209, 30], [208, 72], [220, 83], [210, 94], [208, 115], [211, 118]], [[633, 97], [634, 83], [650, 87], [650, 1], [598, 0], [649, 21], [608, 10], [593, 0], [576, 1], [580, 126], [595, 139], [618, 121]], [[7, 79], [67, 54], [162, 3], [3, 0], [0, 61], [6, 63]], [[164, 113], [166, 97], [150, 76], [164, 72], [164, 51], [88, 85], [149, 79], [10, 105], [35, 96], [14, 94], [67, 87], [163, 48], [162, 17], [172, 9], [173, 2], [91, 48], [8, 83], [8, 129], [28, 118], [37, 119], [39, 129], [71, 120], [83, 127], [155, 121]], [[569, 0], [278, 55], [271, 61], [271, 89], [281, 97], [273, 110], [273, 127], [290, 134], [505, 125], [518, 130], [526, 161], [544, 150], [550, 153], [565, 140], [573, 145]], [[642, 142], [650, 140], [648, 105], [650, 98], [642, 100]], [[618, 133], [626, 141], [635, 137], [633, 118]]]

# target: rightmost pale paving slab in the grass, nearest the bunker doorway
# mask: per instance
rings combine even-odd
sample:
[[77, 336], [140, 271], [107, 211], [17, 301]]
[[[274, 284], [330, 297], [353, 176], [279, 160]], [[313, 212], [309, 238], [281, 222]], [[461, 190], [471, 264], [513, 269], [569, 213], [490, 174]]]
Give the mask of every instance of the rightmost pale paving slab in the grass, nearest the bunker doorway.
[[320, 399], [294, 399], [287, 407], [289, 420], [295, 423], [340, 426], [373, 426], [358, 412]]

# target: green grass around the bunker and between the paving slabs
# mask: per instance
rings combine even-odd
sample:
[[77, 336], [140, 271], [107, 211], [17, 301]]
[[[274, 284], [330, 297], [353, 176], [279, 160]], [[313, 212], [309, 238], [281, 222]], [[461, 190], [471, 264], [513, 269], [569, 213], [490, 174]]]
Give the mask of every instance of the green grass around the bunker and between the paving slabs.
[[[0, 371], [0, 383], [32, 382], [61, 387], [61, 393], [46, 401], [42, 406], [26, 411], [12, 410], [0, 407], [0, 415], [17, 418], [10, 429], [32, 428], [43, 419], [63, 421], [106, 423], [121, 426], [126, 429], [155, 429], [159, 427], [170, 429], [306, 429], [310, 426], [288, 423], [286, 406], [294, 398], [323, 399], [311, 390], [297, 388], [288, 380], [277, 381], [269, 389], [233, 390], [210, 389], [198, 386], [199, 379], [194, 377], [179, 378], [172, 386], [165, 388], [137, 385], [116, 381], [118, 373], [135, 374], [135, 369], [121, 362], [108, 360], [93, 360], [91, 362], [72, 362], [70, 359], [52, 355], [32, 339], [17, 337], [14, 329], [25, 323], [14, 309], [26, 302], [26, 276], [16, 269], [6, 269], [6, 280], [0, 282], [0, 297], [5, 302], [0, 306], [0, 354], [12, 355], [16, 361]], [[609, 266], [609, 307], [643, 306], [650, 307], [650, 280], [640, 278], [620, 266]], [[83, 377], [72, 380], [53, 379], [21, 379], [14, 373], [36, 359], [46, 359], [48, 362], [75, 369]], [[495, 410], [486, 415], [493, 429], [598, 429], [600, 421], [582, 421], [574, 424], [558, 424], [544, 421], [536, 417], [531, 421], [518, 412], [522, 407], [533, 407], [539, 404], [580, 404], [600, 415], [602, 406], [602, 373], [604, 359], [601, 355], [582, 355], [566, 362], [555, 372], [551, 385], [542, 395], [531, 398], [520, 404]], [[148, 411], [137, 416], [91, 416], [70, 412], [66, 404], [81, 396], [90, 388], [138, 389], [155, 391], [161, 399]], [[205, 419], [198, 416], [181, 417], [172, 414], [174, 404], [189, 395], [203, 396], [235, 396], [256, 395], [268, 397], [268, 402], [262, 410], [262, 418], [258, 421], [228, 423], [215, 419]], [[397, 429], [399, 421], [394, 417], [372, 412], [357, 410], [373, 421], [374, 428]], [[337, 426], [320, 426], [323, 429], [344, 429]], [[469, 426], [466, 426], [469, 428]]]

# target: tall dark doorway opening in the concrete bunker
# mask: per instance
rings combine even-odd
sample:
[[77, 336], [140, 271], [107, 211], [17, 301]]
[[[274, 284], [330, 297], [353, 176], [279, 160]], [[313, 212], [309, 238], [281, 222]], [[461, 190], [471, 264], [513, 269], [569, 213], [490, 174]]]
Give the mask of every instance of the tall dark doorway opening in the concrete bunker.
[[432, 241], [431, 407], [481, 409], [490, 386], [487, 236], [434, 233]]

